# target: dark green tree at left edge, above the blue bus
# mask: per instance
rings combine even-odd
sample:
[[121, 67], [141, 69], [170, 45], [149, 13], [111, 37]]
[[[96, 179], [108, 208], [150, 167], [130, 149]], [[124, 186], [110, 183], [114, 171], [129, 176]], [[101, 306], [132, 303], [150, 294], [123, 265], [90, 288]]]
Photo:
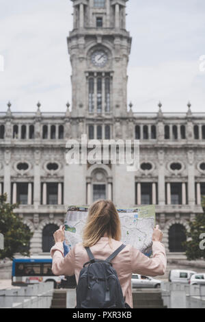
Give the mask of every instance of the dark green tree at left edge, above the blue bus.
[[0, 259], [12, 260], [15, 253], [29, 256], [29, 244], [33, 234], [23, 220], [14, 214], [13, 210], [18, 208], [18, 204], [10, 204], [6, 200], [6, 194], [0, 195], [0, 233], [4, 237], [4, 249], [0, 250]]

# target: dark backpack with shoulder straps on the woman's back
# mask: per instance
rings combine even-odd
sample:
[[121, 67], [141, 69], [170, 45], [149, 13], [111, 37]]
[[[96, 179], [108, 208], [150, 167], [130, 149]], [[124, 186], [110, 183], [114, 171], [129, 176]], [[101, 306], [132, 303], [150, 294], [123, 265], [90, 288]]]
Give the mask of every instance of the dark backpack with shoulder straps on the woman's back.
[[111, 260], [122, 249], [121, 245], [107, 260], [97, 260], [86, 247], [90, 262], [83, 265], [77, 285], [77, 308], [124, 308], [124, 297], [118, 275]]

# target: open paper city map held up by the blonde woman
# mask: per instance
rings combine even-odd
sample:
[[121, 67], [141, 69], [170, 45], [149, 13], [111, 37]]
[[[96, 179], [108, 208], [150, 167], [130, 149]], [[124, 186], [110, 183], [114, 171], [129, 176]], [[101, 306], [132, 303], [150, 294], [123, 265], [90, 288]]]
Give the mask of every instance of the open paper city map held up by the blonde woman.
[[[72, 247], [81, 243], [87, 221], [86, 207], [72, 206], [66, 214], [66, 243]], [[152, 254], [152, 233], [155, 225], [155, 206], [118, 209], [122, 228], [122, 243], [132, 245], [147, 256]]]

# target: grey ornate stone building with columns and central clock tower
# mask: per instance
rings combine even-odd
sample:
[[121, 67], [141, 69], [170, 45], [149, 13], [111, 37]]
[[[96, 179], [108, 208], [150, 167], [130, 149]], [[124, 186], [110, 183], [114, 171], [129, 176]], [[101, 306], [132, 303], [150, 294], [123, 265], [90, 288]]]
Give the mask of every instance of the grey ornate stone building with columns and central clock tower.
[[[156, 205], [156, 221], [171, 253], [183, 251], [184, 230], [202, 212], [205, 194], [205, 113], [133, 112], [127, 107], [131, 37], [127, 0], [72, 0], [68, 36], [72, 108], [46, 113], [0, 112], [0, 194], [33, 232], [31, 253], [49, 251], [69, 205], [112, 199], [119, 208]], [[140, 140], [140, 169], [124, 164], [68, 164], [66, 142]]]

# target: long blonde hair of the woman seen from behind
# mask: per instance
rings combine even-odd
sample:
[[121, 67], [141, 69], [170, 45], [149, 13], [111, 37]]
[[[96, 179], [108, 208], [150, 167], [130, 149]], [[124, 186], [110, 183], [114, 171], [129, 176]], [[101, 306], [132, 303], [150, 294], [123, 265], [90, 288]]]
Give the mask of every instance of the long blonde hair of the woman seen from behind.
[[92, 247], [105, 234], [109, 240], [121, 239], [120, 217], [112, 201], [98, 200], [88, 210], [87, 224], [83, 230], [83, 246]]

